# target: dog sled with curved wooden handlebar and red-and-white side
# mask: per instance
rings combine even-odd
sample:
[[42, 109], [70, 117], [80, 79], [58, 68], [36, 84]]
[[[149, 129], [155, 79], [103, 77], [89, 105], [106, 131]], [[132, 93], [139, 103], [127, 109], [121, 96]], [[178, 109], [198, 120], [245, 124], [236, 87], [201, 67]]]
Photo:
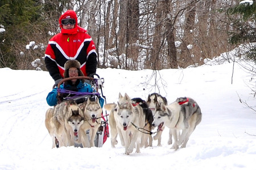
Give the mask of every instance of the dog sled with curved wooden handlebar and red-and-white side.
[[[77, 104], [84, 103], [84, 101], [93, 101], [96, 100], [96, 97], [99, 99], [101, 108], [103, 107], [104, 103], [106, 104], [106, 97], [103, 94], [103, 83], [104, 78], [100, 78], [98, 74], [93, 74], [97, 78], [93, 78], [90, 76], [75, 76], [71, 78], [65, 78], [57, 84], [57, 103], [60, 104], [63, 101], [73, 100]], [[93, 92], [77, 92], [77, 91], [69, 91], [60, 88], [60, 85], [68, 80], [72, 79], [85, 79], [89, 81], [93, 88]], [[68, 94], [68, 95], [67, 95]], [[103, 100], [102, 100], [103, 99]], [[102, 145], [106, 142], [106, 139], [109, 137], [109, 126], [108, 126], [108, 114], [101, 113], [101, 117], [97, 117], [100, 119], [101, 125], [98, 128], [96, 137], [94, 138], [94, 145], [96, 147], [102, 147]], [[89, 130], [86, 131], [86, 134], [89, 138]], [[76, 146], [76, 145], [75, 145]], [[78, 145], [81, 147], [81, 145]]]

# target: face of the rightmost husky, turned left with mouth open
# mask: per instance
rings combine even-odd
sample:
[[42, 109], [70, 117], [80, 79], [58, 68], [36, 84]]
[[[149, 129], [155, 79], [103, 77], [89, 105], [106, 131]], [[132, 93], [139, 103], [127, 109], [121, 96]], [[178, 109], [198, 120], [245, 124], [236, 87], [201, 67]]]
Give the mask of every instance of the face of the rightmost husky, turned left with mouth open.
[[152, 122], [152, 126], [158, 126], [158, 130], [163, 131], [162, 127], [165, 122], [170, 120], [171, 113], [167, 109], [166, 105], [161, 104], [159, 108], [156, 109], [154, 114], [154, 121]]

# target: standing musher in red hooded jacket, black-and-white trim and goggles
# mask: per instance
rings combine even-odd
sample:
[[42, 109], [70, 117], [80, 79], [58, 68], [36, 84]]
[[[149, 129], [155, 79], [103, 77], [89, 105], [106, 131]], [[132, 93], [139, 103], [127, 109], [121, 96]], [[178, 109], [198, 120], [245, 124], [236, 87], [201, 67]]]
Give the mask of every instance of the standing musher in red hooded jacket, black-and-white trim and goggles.
[[96, 73], [96, 48], [92, 37], [84, 28], [77, 25], [76, 12], [72, 10], [65, 12], [60, 16], [59, 24], [61, 33], [49, 40], [44, 59], [55, 84], [63, 79], [64, 64], [69, 59], [80, 62], [80, 69], [85, 76]]

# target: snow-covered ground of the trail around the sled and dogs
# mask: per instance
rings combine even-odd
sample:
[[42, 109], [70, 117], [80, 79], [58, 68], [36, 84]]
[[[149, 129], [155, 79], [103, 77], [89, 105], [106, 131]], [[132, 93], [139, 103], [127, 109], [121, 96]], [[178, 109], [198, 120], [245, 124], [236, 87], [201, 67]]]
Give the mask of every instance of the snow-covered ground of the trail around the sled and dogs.
[[255, 169], [256, 113], [243, 104], [255, 109], [250, 88], [255, 87], [255, 77], [239, 63], [234, 65], [233, 84], [233, 63], [228, 62], [156, 72], [97, 69], [105, 79], [107, 103], [116, 103], [119, 92], [144, 100], [160, 92], [169, 103], [192, 97], [203, 112], [186, 148], [170, 149], [166, 128], [162, 147], [154, 141], [152, 147], [130, 155], [124, 154], [120, 142], [112, 148], [110, 138], [101, 148], [52, 149], [44, 125], [51, 76], [46, 71], [2, 68], [0, 169]]

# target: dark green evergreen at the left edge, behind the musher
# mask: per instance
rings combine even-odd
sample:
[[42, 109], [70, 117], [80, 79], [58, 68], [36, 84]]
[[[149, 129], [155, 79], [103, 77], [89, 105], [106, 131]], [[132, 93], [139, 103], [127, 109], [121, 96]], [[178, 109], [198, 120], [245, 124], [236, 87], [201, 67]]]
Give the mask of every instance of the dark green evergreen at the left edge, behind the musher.
[[0, 67], [20, 68], [20, 50], [35, 36], [41, 8], [34, 0], [0, 1], [0, 24], [5, 28], [5, 32], [0, 33]]

